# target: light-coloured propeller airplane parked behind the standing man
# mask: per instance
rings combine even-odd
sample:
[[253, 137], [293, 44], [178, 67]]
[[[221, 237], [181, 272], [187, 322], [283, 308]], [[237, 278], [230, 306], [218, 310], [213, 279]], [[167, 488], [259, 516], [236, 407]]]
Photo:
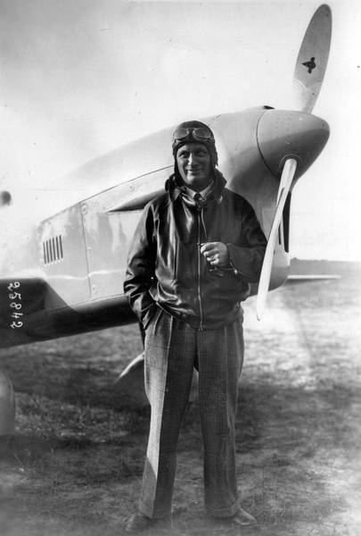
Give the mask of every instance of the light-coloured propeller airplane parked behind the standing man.
[[[260, 281], [251, 288], [251, 295], [258, 294], [258, 319], [268, 290], [288, 278], [292, 190], [329, 137], [327, 122], [312, 110], [331, 33], [331, 9], [322, 4], [296, 61], [296, 109], [261, 105], [201, 119], [215, 134], [227, 187], [250, 202], [268, 237]], [[136, 322], [123, 291], [127, 250], [144, 206], [164, 191], [173, 172], [174, 129], [140, 138], [70, 173], [58, 185], [59, 210], [27, 230], [22, 242], [6, 245], [0, 264], [0, 348]], [[67, 200], [62, 191], [70, 194]], [[141, 361], [137, 356], [124, 373]], [[1, 412], [12, 415], [12, 401], [11, 382], [1, 373], [0, 436], [9, 431], [2, 427]]]

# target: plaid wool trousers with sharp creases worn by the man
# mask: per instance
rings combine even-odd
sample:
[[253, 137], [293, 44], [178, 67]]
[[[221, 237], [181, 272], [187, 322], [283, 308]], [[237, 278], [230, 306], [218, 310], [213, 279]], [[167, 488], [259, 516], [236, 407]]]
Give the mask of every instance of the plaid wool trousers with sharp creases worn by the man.
[[152, 518], [171, 512], [176, 443], [192, 385], [199, 372], [204, 444], [205, 507], [227, 517], [238, 507], [234, 423], [243, 363], [242, 319], [198, 331], [163, 310], [145, 333], [144, 381], [152, 408], [139, 510]]

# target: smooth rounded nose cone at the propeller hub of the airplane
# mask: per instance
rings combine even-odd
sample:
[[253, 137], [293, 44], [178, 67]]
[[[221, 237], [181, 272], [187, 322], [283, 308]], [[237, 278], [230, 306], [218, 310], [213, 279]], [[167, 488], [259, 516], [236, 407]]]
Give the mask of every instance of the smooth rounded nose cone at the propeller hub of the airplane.
[[310, 113], [269, 110], [258, 121], [258, 147], [268, 169], [279, 177], [287, 158], [298, 161], [296, 179], [306, 172], [330, 135], [326, 121]]

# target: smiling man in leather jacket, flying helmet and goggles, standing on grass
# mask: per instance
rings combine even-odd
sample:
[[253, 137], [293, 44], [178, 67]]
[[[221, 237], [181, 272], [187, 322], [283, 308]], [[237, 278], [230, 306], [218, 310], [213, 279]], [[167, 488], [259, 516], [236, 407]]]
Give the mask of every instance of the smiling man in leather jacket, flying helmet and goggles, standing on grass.
[[152, 415], [138, 511], [126, 532], [169, 518], [176, 442], [199, 372], [205, 507], [248, 525], [238, 504], [234, 423], [242, 370], [240, 302], [258, 281], [267, 241], [252, 207], [217, 171], [212, 131], [200, 121], [173, 134], [175, 172], [145, 206], [124, 289], [145, 330], [145, 390]]

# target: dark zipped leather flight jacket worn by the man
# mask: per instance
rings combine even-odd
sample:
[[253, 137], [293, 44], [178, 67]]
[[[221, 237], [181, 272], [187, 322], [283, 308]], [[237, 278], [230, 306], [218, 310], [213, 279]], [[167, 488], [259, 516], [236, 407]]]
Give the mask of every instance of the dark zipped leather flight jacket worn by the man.
[[[242, 318], [241, 302], [257, 282], [267, 240], [250, 204], [215, 171], [204, 201], [190, 198], [171, 175], [166, 192], [145, 206], [128, 254], [124, 290], [144, 329], [158, 306], [199, 330]], [[223, 242], [225, 268], [201, 255], [204, 242]]]

